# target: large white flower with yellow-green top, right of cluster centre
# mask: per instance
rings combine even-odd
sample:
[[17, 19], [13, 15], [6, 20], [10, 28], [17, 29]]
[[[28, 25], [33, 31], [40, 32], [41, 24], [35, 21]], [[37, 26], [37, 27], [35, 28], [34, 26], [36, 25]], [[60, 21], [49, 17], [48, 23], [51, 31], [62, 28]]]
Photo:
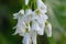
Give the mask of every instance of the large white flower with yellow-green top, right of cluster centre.
[[36, 9], [33, 12], [33, 15], [35, 15], [33, 18], [33, 24], [32, 24], [32, 29], [37, 32], [37, 34], [43, 35], [44, 34], [44, 28], [45, 28], [45, 22], [47, 21], [48, 16], [43, 13], [42, 10]]

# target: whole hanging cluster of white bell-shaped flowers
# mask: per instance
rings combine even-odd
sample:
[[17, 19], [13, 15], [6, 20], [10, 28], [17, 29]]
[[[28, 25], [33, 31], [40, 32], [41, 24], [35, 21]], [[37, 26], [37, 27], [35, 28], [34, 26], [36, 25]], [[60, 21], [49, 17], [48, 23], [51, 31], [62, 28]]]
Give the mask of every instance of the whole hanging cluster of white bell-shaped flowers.
[[[29, 0], [25, 0], [25, 6], [28, 6]], [[47, 7], [42, 0], [36, 0], [37, 9], [32, 11], [32, 9], [22, 9], [18, 13], [13, 14], [13, 19], [18, 19], [18, 24], [14, 26], [15, 34], [23, 36], [23, 44], [36, 44], [36, 36], [43, 35], [44, 31], [47, 36], [52, 36], [52, 25], [47, 22], [48, 16], [45, 14], [47, 12]], [[46, 30], [45, 30], [46, 28]]]

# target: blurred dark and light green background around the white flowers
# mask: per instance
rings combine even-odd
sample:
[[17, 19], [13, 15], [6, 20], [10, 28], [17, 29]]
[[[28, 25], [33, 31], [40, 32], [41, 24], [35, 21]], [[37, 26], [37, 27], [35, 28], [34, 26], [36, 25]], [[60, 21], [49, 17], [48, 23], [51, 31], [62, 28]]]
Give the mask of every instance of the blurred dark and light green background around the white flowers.
[[[43, 0], [48, 8], [53, 36], [37, 36], [37, 44], [66, 44], [66, 0]], [[13, 13], [22, 8], [22, 0], [0, 0], [0, 44], [22, 44], [22, 36], [12, 35], [16, 24]]]

